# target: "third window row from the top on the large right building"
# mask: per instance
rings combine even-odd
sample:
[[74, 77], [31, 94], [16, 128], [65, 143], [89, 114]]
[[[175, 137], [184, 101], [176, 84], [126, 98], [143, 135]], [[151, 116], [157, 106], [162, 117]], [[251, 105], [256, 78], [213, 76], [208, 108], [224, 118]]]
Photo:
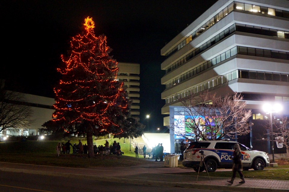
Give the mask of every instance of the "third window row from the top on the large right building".
[[[215, 58], [212, 58], [211, 60], [195, 67], [194, 69], [188, 71], [185, 74], [182, 74], [181, 76], [169, 81], [166, 83], [166, 89], [176, 85], [178, 83], [183, 82], [184, 80], [196, 75], [197, 73], [200, 73], [210, 67], [213, 67], [214, 65], [225, 61], [228, 58], [231, 58], [232, 56], [240, 54], [240, 55], [252, 55], [252, 56], [259, 56], [259, 57], [269, 57], [269, 58], [279, 58], [279, 59], [286, 59], [289, 60], [289, 52], [283, 52], [283, 51], [275, 51], [275, 50], [269, 50], [269, 49], [257, 49], [257, 48], [251, 48], [251, 47], [243, 47], [243, 46], [235, 46], [232, 49], [223, 52], [222, 54], [216, 56]], [[287, 81], [287, 80], [286, 80]]]

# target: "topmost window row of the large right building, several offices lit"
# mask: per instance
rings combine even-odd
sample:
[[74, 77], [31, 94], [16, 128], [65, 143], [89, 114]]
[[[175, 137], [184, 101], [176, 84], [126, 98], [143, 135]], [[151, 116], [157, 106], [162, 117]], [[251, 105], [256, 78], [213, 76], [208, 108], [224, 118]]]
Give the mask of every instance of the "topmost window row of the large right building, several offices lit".
[[202, 32], [206, 31], [208, 28], [213, 26], [216, 22], [221, 20], [224, 16], [228, 15], [228, 13], [232, 12], [233, 10], [244, 10], [244, 11], [250, 11], [253, 13], [261, 13], [261, 14], [268, 14], [272, 16], [289, 18], [289, 11], [286, 11], [286, 10], [274, 9], [274, 8], [234, 1], [231, 4], [229, 4], [227, 7], [225, 7], [223, 10], [221, 10], [214, 17], [212, 17], [210, 20], [208, 20], [202, 27], [194, 31], [185, 40], [183, 40], [181, 43], [179, 43], [177, 46], [175, 46], [169, 52], [167, 52], [166, 56], [172, 55], [173, 53], [181, 49], [183, 46], [190, 43], [194, 38], [196, 38]]

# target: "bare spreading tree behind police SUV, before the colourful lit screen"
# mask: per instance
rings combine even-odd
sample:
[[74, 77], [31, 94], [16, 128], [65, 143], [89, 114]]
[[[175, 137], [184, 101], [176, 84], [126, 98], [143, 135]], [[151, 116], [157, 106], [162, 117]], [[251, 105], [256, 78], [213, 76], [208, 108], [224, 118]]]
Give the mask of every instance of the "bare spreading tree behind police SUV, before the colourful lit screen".
[[171, 125], [176, 135], [186, 139], [221, 140], [250, 132], [251, 110], [245, 109], [243, 96], [238, 93], [220, 97], [204, 91], [180, 99], [185, 112], [182, 121]]

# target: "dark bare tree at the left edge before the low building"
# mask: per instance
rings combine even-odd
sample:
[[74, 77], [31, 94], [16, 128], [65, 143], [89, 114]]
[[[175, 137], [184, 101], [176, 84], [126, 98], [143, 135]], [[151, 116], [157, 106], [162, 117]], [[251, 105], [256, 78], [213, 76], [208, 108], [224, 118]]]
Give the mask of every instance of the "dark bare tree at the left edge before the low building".
[[19, 131], [26, 129], [32, 122], [32, 110], [25, 105], [23, 93], [7, 91], [3, 80], [0, 81], [0, 133], [7, 129]]

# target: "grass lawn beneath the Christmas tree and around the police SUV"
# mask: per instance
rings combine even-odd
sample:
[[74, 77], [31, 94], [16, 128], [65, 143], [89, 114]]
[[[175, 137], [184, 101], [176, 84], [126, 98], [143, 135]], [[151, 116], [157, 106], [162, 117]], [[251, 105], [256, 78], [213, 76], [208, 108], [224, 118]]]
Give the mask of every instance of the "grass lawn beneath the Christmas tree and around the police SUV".
[[[78, 143], [78, 138], [70, 139], [70, 143]], [[86, 140], [81, 139], [85, 144]], [[129, 139], [108, 139], [110, 144], [113, 141], [120, 143], [121, 150], [124, 155], [95, 155], [95, 158], [88, 158], [87, 154], [61, 154], [60, 157], [56, 154], [56, 145], [60, 141], [15, 141], [0, 143], [0, 161], [23, 164], [50, 165], [61, 167], [129, 167], [133, 165], [150, 164], [151, 161], [146, 161], [142, 156], [135, 158], [134, 149], [130, 146]], [[105, 139], [95, 140], [94, 145], [104, 145]], [[72, 149], [71, 152], [72, 153]], [[278, 167], [266, 167], [261, 171], [243, 171], [245, 178], [251, 179], [274, 179], [274, 180], [289, 180], [289, 162], [275, 160]], [[180, 169], [187, 169], [182, 166], [179, 161]], [[192, 170], [192, 169], [191, 169]], [[197, 176], [197, 172], [192, 170], [188, 173], [180, 173], [183, 175]], [[226, 177], [232, 176], [232, 171], [216, 171], [209, 173], [210, 177]], [[207, 172], [200, 172], [199, 176], [208, 176]]]

